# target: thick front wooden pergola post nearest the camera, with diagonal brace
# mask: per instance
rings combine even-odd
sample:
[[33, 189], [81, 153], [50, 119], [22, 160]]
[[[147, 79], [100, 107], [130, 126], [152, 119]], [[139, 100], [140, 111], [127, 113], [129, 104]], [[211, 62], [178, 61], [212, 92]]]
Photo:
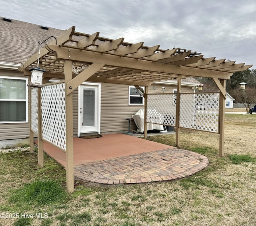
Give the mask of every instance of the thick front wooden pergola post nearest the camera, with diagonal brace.
[[67, 83], [72, 80], [72, 61], [64, 60], [66, 99], [66, 184], [68, 192], [74, 191], [74, 150], [73, 150], [73, 98], [68, 94]]

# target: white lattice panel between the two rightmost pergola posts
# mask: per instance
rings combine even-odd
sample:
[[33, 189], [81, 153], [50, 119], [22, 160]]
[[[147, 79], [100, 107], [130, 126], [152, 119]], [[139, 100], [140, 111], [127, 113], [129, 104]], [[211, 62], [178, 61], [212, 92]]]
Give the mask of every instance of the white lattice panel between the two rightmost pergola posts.
[[218, 133], [219, 93], [181, 93], [180, 127]]

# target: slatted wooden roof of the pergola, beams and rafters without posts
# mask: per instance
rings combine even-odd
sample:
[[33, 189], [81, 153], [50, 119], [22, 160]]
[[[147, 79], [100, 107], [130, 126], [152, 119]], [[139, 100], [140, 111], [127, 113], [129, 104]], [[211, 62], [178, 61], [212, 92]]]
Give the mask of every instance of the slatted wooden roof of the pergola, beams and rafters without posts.
[[[116, 40], [102, 38], [99, 37], [99, 32], [92, 35], [83, 34], [75, 32], [75, 27], [71, 27], [58, 36], [57, 45], [54, 45], [54, 42], [55, 40], [41, 50], [40, 61], [42, 61], [42, 69], [52, 72], [52, 75], [56, 73], [58, 78], [61, 74], [64, 77], [64, 59], [71, 59], [75, 65], [103, 62], [104, 65], [116, 71], [122, 71], [121, 75], [126, 75], [125, 80], [130, 84], [132, 80], [143, 80], [143, 75], [140, 73], [144, 71], [162, 72], [166, 76], [165, 80], [168, 80], [170, 75], [172, 79], [175, 75], [177, 77], [181, 75], [182, 77], [229, 79], [234, 71], [251, 67], [251, 65], [236, 64], [235, 61], [225, 62], [225, 59], [215, 59], [215, 57], [203, 58], [201, 53], [186, 49], [161, 50], [159, 45], [148, 47], [143, 46], [143, 42], [136, 44], [124, 42], [124, 38]], [[37, 59], [38, 53], [26, 61], [24, 69], [35, 67]], [[148, 65], [152, 65], [154, 69]], [[112, 78], [117, 73], [114, 69], [99, 70], [94, 76], [102, 76], [105, 80]], [[134, 76], [134, 69], [138, 69], [136, 76]], [[164, 77], [162, 73], [159, 73], [161, 79]], [[129, 77], [132, 74], [133, 76]], [[96, 80], [95, 77], [92, 79]], [[146, 79], [145, 82], [153, 82], [153, 80]]]

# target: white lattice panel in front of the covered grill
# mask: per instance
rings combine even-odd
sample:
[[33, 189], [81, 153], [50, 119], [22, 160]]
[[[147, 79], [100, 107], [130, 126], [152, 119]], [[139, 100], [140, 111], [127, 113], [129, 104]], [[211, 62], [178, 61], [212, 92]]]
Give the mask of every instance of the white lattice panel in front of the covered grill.
[[175, 126], [176, 94], [148, 94], [147, 122]]

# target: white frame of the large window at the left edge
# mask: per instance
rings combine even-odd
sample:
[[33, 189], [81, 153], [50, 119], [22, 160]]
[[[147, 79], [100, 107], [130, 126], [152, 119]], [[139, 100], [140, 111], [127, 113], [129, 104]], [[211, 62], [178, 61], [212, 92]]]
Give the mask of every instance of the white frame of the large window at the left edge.
[[[5, 76], [5, 75], [0, 75], [0, 78], [3, 79], [15, 79], [15, 80], [25, 80], [26, 81], [26, 121], [4, 121], [1, 122], [0, 124], [10, 124], [10, 123], [28, 123], [28, 78], [25, 77], [15, 77], [15, 76]], [[0, 99], [0, 101], [25, 101], [21, 99]]]

